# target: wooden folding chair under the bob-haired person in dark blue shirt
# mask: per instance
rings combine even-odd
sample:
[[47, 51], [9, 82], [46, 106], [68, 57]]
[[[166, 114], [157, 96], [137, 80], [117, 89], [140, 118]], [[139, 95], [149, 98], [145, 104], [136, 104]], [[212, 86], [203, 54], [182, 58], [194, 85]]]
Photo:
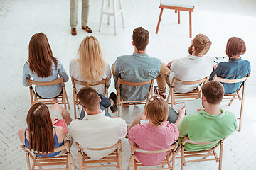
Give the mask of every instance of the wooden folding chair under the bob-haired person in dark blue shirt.
[[[249, 77], [250, 77], [250, 74], [248, 74], [247, 77], [244, 77], [242, 79], [223, 79], [222, 77], [218, 77], [217, 75], [215, 75], [213, 77], [213, 81], [220, 81], [221, 83], [233, 84], [233, 83], [242, 82], [238, 91], [235, 91], [235, 93], [233, 93], [233, 94], [225, 94], [224, 97], [223, 97], [223, 101], [229, 101], [230, 102], [230, 103], [228, 103], [228, 106], [230, 106], [231, 103], [233, 102], [233, 100], [235, 100], [235, 99], [238, 99], [241, 102], [240, 116], [238, 118], [238, 120], [239, 120], [238, 131], [241, 131], [241, 128], [242, 128], [241, 126], [242, 126], [243, 104], [244, 104], [244, 100], [245, 100], [245, 85], [246, 85], [246, 81]], [[240, 96], [240, 94], [239, 94], [240, 90], [242, 91], [242, 96]]]

